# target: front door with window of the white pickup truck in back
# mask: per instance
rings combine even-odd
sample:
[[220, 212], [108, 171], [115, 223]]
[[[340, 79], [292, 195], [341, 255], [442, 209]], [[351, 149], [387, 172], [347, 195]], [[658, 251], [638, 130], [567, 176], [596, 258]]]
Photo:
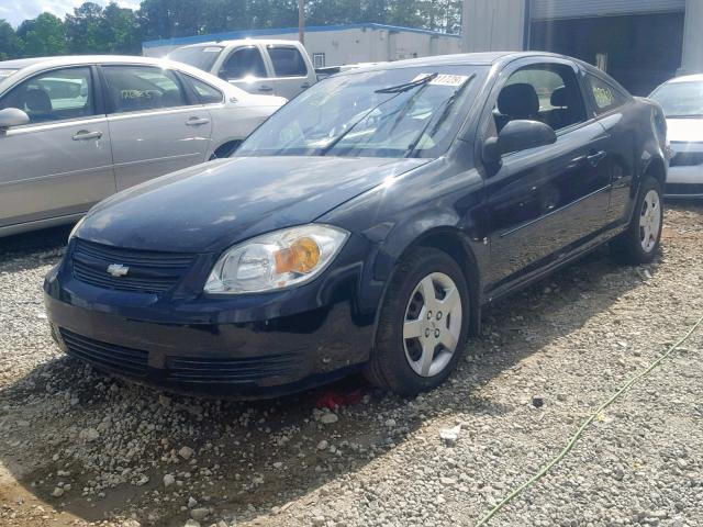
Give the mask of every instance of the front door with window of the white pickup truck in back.
[[274, 96], [276, 91], [258, 44], [233, 48], [224, 58], [217, 75], [249, 93]]

